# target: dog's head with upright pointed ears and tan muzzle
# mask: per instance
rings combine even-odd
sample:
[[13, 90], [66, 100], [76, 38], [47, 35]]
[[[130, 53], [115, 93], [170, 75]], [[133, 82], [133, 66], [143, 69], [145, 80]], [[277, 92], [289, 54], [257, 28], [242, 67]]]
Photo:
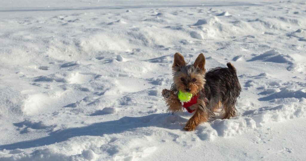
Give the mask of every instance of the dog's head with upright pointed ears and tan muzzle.
[[178, 90], [198, 94], [205, 84], [205, 56], [201, 53], [192, 65], [186, 64], [180, 53], [174, 54], [173, 81]]

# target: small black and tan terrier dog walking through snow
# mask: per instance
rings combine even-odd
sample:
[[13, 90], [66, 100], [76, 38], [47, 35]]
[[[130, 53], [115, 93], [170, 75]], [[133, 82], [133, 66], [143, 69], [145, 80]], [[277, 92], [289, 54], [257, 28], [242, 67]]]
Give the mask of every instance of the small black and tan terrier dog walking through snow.
[[223, 106], [222, 119], [234, 117], [236, 114], [235, 104], [241, 92], [236, 69], [231, 63], [228, 68], [216, 67], [206, 72], [205, 57], [201, 53], [193, 64], [187, 64], [180, 53], [174, 54], [172, 66], [173, 81], [171, 89], [163, 89], [162, 96], [168, 106], [169, 112], [183, 111], [182, 104], [177, 97], [177, 92], [192, 93], [197, 97], [197, 102], [189, 110], [195, 110], [194, 115], [184, 127], [192, 131], [202, 122], [215, 117], [214, 111]]

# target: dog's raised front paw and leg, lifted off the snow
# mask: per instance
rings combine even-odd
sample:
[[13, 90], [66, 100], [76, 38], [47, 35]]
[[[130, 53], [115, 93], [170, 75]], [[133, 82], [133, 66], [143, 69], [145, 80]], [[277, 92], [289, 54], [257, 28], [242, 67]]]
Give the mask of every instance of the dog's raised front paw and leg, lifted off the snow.
[[162, 96], [164, 97], [164, 100], [166, 101], [166, 104], [168, 106], [167, 111], [173, 113], [177, 111], [183, 111], [182, 105], [178, 100], [177, 95], [175, 95], [173, 91], [163, 89]]

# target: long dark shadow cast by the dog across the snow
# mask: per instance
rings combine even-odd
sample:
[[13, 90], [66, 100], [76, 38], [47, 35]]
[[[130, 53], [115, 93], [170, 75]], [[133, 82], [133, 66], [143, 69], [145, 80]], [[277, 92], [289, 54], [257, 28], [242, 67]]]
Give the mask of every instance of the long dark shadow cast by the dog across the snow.
[[[174, 119], [175, 118], [175, 119]], [[13, 144], [0, 145], [0, 149], [33, 148], [38, 146], [50, 145], [66, 141], [76, 136], [102, 136], [103, 134], [121, 133], [124, 131], [133, 131], [140, 127], [163, 127], [170, 129], [182, 129], [186, 122], [185, 118], [180, 116], [168, 116], [168, 113], [151, 114], [143, 117], [122, 117], [115, 121], [106, 121], [88, 125], [86, 127], [68, 128], [51, 132], [49, 136], [34, 140], [21, 141]]]

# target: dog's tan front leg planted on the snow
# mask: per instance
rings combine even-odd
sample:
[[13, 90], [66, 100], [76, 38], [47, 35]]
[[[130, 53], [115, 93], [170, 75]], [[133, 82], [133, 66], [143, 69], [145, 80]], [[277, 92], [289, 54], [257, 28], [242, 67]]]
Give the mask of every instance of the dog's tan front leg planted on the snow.
[[210, 117], [214, 117], [214, 113], [207, 109], [205, 103], [198, 99], [197, 108], [194, 115], [188, 120], [184, 127], [187, 131], [193, 131], [197, 125], [207, 121]]

